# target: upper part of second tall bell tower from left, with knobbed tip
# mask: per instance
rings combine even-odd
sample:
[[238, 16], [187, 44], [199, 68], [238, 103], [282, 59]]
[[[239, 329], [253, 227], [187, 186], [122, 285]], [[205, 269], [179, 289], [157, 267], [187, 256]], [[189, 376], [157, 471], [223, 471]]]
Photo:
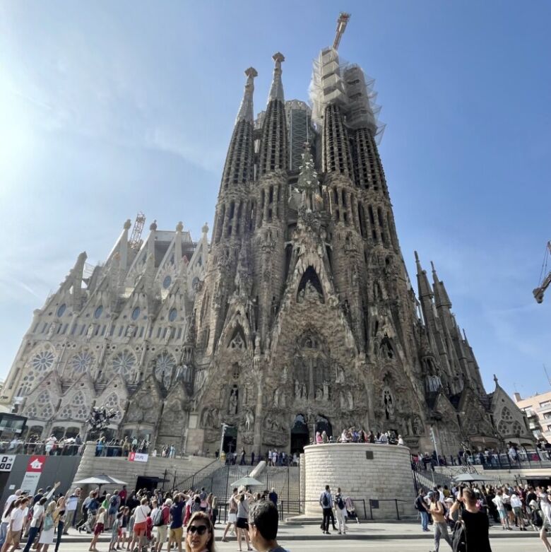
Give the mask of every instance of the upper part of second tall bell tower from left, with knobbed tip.
[[287, 123], [281, 83], [281, 62], [284, 60], [285, 57], [280, 52], [273, 54], [273, 61], [275, 61], [273, 82], [268, 95], [268, 107], [266, 107], [266, 116], [262, 125], [259, 151], [260, 175], [287, 169]]

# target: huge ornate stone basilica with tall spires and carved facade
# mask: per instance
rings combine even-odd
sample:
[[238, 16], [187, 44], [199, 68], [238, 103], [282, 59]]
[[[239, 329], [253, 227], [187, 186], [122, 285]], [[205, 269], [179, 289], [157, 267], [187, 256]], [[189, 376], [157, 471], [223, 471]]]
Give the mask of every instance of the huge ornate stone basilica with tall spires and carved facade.
[[[336, 45], [314, 61], [310, 104], [285, 101], [279, 52], [255, 118], [250, 67], [211, 241], [178, 223], [124, 228], [104, 264], [81, 253], [35, 310], [1, 402], [28, 433], [109, 433], [158, 449], [297, 452], [317, 430], [393, 430], [413, 451], [531, 442], [488, 393], [444, 283], [415, 253], [417, 294], [378, 152], [373, 81]], [[236, 100], [237, 104], [237, 100]], [[409, 254], [409, 253], [408, 253]]]

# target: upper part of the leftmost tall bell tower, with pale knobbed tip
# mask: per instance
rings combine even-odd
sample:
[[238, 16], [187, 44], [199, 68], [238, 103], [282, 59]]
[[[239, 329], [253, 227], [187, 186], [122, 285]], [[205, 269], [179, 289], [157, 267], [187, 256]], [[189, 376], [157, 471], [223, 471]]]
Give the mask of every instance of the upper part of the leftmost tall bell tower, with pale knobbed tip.
[[253, 170], [253, 92], [254, 78], [258, 75], [254, 67], [245, 71], [247, 83], [243, 100], [235, 119], [230, 147], [227, 148], [226, 163], [220, 183], [220, 194], [228, 187], [245, 184], [254, 177]]

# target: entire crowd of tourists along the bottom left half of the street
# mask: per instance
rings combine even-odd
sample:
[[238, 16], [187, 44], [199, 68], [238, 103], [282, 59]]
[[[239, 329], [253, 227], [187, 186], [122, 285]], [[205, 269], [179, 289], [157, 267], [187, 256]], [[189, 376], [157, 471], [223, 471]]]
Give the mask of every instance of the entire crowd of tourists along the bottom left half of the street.
[[[58, 486], [39, 489], [35, 496], [18, 490], [8, 497], [2, 510], [0, 552], [20, 548], [22, 535], [27, 539], [23, 552], [31, 547], [47, 552], [50, 545], [58, 552], [69, 527], [90, 534], [90, 552], [98, 552], [97, 543], [105, 533], [110, 536], [109, 551], [161, 552], [167, 544], [167, 551], [174, 547], [182, 552], [183, 541], [186, 550], [214, 551], [218, 499], [205, 488], [170, 492], [141, 489], [132, 493], [126, 486], [113, 493], [100, 493], [97, 488], [84, 498], [81, 488], [56, 497]], [[252, 550], [251, 544], [257, 546], [259, 539], [264, 539], [273, 545], [271, 549], [285, 552], [276, 548], [277, 503], [273, 488], [256, 494], [245, 487], [235, 488], [225, 505], [228, 522], [220, 539], [228, 541], [231, 530], [239, 550], [243, 540], [247, 550]]]

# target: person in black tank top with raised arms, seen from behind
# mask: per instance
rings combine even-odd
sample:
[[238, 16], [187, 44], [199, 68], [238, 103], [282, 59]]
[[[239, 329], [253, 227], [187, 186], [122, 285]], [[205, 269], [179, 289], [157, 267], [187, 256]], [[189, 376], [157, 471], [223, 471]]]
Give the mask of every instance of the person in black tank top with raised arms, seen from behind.
[[475, 492], [467, 487], [462, 493], [458, 493], [455, 503], [450, 508], [451, 513], [463, 508], [461, 519], [454, 527], [454, 552], [492, 552], [488, 536], [490, 522], [485, 512], [478, 509], [476, 501]]

